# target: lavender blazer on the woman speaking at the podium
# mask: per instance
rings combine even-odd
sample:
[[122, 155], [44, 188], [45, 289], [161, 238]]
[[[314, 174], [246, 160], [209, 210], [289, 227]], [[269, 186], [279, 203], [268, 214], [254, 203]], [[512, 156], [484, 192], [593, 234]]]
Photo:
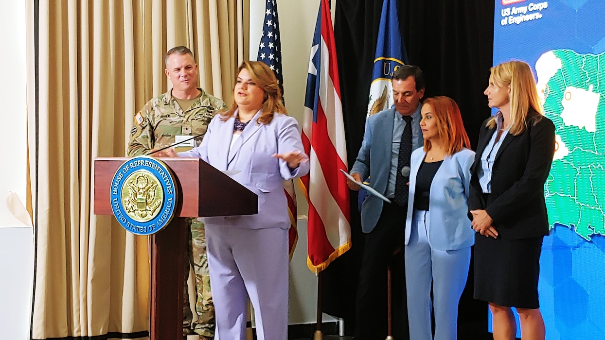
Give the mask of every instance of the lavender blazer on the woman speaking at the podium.
[[[237, 112], [235, 112], [237, 114]], [[236, 170], [231, 178], [258, 195], [258, 214], [229, 217], [204, 217], [207, 225], [243, 228], [290, 228], [284, 180], [309, 173], [309, 162], [290, 170], [274, 153], [298, 150], [304, 153], [295, 118], [273, 114], [269, 124], [258, 123], [261, 112], [250, 120], [231, 147], [235, 117], [226, 121], [212, 118], [200, 146], [179, 157], [199, 157], [218, 170]]]

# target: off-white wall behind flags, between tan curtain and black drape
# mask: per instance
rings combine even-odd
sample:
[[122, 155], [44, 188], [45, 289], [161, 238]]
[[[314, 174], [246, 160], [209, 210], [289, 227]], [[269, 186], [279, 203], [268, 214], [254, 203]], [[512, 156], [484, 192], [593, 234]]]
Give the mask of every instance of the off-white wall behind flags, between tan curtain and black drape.
[[[250, 60], [256, 60], [263, 31], [266, 0], [250, 0]], [[335, 1], [332, 1], [332, 18]], [[319, 0], [277, 0], [280, 19], [281, 59], [284, 75], [284, 98], [289, 114], [302, 123], [304, 96], [313, 31]], [[297, 188], [298, 189], [298, 188]], [[316, 322], [317, 277], [307, 268], [307, 220], [309, 209], [302, 193], [298, 201], [298, 246], [290, 262], [290, 324]], [[325, 321], [335, 318], [324, 315]]]

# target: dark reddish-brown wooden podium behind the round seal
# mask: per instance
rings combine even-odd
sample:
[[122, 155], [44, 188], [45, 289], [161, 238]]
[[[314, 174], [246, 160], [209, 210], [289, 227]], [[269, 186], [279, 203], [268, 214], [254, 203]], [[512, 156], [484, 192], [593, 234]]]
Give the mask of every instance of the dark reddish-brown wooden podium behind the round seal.
[[[94, 159], [94, 214], [113, 215], [110, 188], [130, 158]], [[258, 196], [198, 158], [160, 158], [178, 187], [174, 218], [151, 236], [151, 340], [183, 338], [183, 269], [187, 246], [185, 217], [258, 213]]]

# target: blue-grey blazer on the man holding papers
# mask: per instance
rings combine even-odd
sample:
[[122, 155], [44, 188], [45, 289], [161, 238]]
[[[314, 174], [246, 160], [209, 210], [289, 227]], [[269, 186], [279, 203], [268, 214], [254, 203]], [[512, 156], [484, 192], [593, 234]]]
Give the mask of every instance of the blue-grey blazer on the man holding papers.
[[[387, 109], [371, 115], [365, 122], [364, 140], [350, 173], [359, 173], [361, 179], [370, 176], [370, 186], [381, 194], [387, 193], [388, 176], [391, 172], [393, 121], [395, 109]], [[417, 137], [422, 145], [422, 134]], [[368, 194], [361, 204], [361, 229], [370, 233], [376, 227], [382, 213], [383, 200]]]

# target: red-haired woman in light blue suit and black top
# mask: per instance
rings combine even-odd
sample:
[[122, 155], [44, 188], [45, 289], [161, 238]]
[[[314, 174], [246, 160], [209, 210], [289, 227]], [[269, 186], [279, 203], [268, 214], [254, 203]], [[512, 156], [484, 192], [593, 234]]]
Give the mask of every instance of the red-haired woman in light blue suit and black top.
[[428, 98], [421, 114], [424, 147], [411, 156], [411, 213], [405, 222], [410, 339], [433, 339], [434, 307], [434, 339], [451, 340], [457, 338], [458, 302], [474, 243], [466, 199], [475, 153], [468, 149], [456, 101]]

